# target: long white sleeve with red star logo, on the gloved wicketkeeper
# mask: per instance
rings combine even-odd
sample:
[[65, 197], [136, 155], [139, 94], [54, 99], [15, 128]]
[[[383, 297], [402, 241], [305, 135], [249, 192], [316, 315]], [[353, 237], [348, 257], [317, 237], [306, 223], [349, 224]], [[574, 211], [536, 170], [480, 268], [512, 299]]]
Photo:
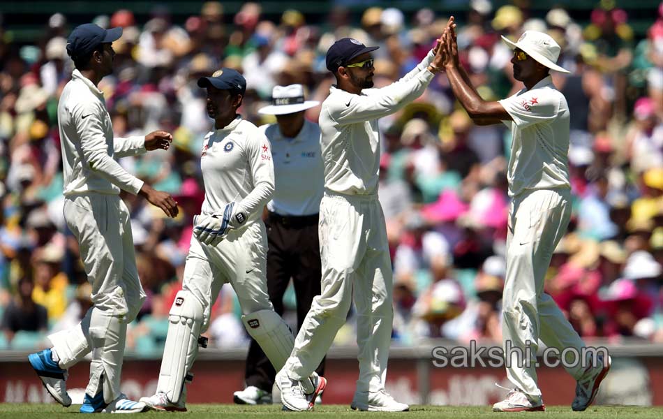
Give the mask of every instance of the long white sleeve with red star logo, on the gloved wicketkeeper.
[[274, 193], [274, 162], [271, 161], [271, 145], [265, 133], [256, 129], [248, 133], [246, 151], [253, 178], [253, 191], [239, 203], [237, 212], [253, 214], [262, 212]]

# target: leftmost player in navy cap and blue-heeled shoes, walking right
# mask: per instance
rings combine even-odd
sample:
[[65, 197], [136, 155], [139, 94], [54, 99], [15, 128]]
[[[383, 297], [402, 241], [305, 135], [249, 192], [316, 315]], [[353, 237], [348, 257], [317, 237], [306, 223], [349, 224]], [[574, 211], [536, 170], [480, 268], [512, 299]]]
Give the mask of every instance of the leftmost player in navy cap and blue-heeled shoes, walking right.
[[48, 392], [63, 406], [67, 369], [92, 352], [90, 381], [81, 413], [138, 413], [147, 409], [120, 392], [126, 325], [145, 300], [135, 263], [129, 212], [120, 189], [140, 194], [177, 215], [177, 203], [126, 172], [115, 159], [146, 150], [168, 149], [172, 137], [154, 131], [146, 137], [113, 138], [110, 115], [98, 82], [112, 73], [112, 41], [122, 28], [96, 24], [75, 28], [67, 52], [76, 69], [58, 104], [64, 166], [64, 217], [80, 245], [80, 256], [92, 284], [93, 307], [75, 328], [50, 335], [53, 347], [29, 355]]

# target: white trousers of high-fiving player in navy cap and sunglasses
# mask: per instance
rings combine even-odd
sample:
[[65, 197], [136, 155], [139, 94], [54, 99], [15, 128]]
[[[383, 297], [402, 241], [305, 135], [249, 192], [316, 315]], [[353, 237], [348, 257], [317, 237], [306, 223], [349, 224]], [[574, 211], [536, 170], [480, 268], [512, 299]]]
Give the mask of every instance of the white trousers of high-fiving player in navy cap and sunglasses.
[[320, 203], [322, 292], [313, 298], [285, 364], [291, 378], [310, 376], [345, 324], [354, 288], [357, 308], [357, 392], [385, 388], [392, 337], [392, 264], [378, 197], [325, 192]]

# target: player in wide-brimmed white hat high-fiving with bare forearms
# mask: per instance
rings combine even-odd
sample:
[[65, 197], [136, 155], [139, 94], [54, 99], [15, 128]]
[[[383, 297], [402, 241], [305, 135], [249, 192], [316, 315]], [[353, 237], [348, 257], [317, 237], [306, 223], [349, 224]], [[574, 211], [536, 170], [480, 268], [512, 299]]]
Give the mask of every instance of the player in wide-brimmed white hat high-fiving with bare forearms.
[[[453, 17], [452, 17], [453, 19]], [[531, 348], [530, 366], [516, 353], [507, 377], [515, 388], [493, 405], [493, 411], [543, 411], [537, 385], [535, 356], [538, 341], [546, 346], [585, 346], [550, 295], [544, 293], [544, 277], [553, 250], [566, 233], [571, 216], [569, 108], [549, 75], [550, 70], [568, 73], [558, 66], [559, 45], [546, 34], [525, 31], [518, 42], [502, 39], [514, 50], [514, 78], [525, 88], [498, 102], [485, 102], [476, 93], [459, 65], [455, 24], [445, 30], [442, 45], [445, 70], [456, 98], [479, 125], [503, 122], [512, 131], [512, 152], [507, 177], [512, 203], [507, 237], [507, 273], [502, 296], [502, 335], [512, 346]], [[574, 358], [570, 355], [569, 358]], [[610, 357], [597, 365], [565, 366], [576, 378], [574, 411], [593, 402], [599, 384], [610, 368]]]

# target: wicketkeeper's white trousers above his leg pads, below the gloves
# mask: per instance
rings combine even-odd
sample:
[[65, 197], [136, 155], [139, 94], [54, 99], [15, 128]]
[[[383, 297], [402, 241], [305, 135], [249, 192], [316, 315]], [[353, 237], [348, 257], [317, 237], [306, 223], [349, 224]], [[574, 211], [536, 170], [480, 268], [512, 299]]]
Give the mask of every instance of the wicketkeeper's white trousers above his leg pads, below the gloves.
[[230, 230], [216, 247], [191, 237], [184, 265], [182, 289], [191, 291], [204, 309], [200, 332], [209, 327], [211, 307], [221, 286], [229, 282], [239, 299], [242, 314], [274, 310], [267, 294], [267, 231], [256, 221], [240, 230]]

